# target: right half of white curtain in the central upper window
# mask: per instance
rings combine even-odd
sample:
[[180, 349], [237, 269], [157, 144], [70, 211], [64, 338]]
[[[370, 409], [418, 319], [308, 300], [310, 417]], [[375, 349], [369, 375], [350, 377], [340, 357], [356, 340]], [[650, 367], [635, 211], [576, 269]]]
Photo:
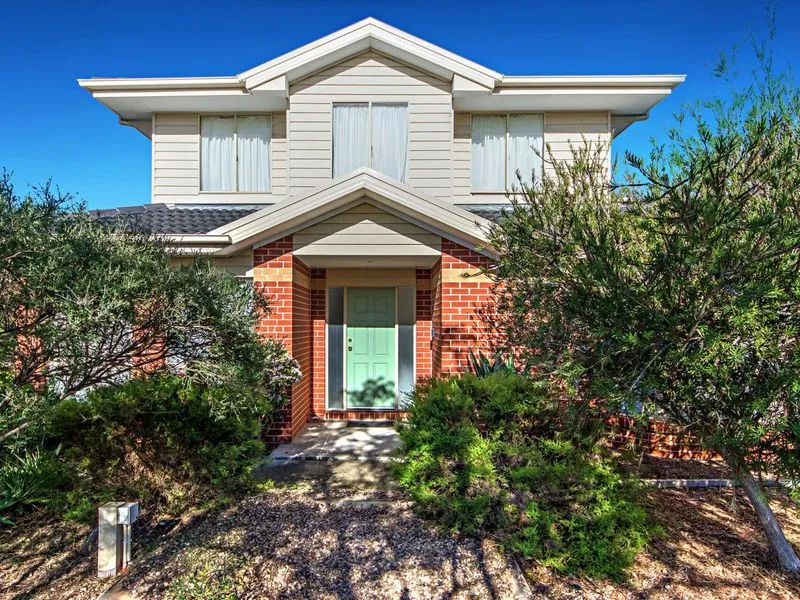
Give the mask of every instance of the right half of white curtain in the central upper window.
[[408, 107], [372, 105], [372, 168], [398, 181], [406, 180]]

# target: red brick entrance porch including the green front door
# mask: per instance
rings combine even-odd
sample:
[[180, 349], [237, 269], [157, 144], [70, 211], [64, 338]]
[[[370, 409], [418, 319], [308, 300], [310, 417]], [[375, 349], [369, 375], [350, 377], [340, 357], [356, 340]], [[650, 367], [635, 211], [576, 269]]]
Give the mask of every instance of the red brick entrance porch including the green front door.
[[393, 267], [366, 257], [362, 268], [351, 259], [335, 267], [334, 257], [298, 252], [291, 235], [254, 249], [254, 285], [272, 302], [259, 332], [281, 339], [302, 373], [268, 445], [291, 442], [308, 423], [305, 439], [317, 441], [290, 452], [313, 454], [333, 440], [320, 441], [317, 421], [402, 418], [417, 382], [464, 370], [469, 349], [488, 343], [488, 258], [436, 241], [436, 256], [396, 256]]

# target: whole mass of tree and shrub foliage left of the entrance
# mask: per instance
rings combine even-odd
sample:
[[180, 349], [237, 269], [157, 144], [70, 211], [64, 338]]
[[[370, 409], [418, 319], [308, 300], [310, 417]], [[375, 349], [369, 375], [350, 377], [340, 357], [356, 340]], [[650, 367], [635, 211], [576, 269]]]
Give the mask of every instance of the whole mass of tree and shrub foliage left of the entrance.
[[267, 310], [208, 260], [176, 260], [49, 183], [20, 196], [4, 172], [2, 513], [81, 518], [114, 494], [179, 506], [236, 485], [263, 450], [260, 419], [299, 376], [256, 331]]

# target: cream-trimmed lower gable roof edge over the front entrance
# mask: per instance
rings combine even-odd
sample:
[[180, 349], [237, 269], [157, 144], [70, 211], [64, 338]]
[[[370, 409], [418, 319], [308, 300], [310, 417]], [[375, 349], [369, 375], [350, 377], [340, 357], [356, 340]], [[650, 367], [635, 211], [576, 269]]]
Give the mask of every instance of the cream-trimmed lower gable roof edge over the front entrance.
[[287, 236], [365, 200], [445, 238], [492, 254], [486, 237], [490, 221], [365, 168], [262, 208], [208, 235], [228, 236], [230, 244], [216, 253], [227, 256]]

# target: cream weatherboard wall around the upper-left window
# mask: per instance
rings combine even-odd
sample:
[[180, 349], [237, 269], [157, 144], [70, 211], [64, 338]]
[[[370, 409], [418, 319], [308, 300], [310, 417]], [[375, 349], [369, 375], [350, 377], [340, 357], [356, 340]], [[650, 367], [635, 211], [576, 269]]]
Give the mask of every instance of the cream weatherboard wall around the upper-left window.
[[286, 196], [286, 115], [272, 114], [272, 192], [200, 193], [200, 119], [197, 114], [153, 117], [153, 202], [272, 203]]

